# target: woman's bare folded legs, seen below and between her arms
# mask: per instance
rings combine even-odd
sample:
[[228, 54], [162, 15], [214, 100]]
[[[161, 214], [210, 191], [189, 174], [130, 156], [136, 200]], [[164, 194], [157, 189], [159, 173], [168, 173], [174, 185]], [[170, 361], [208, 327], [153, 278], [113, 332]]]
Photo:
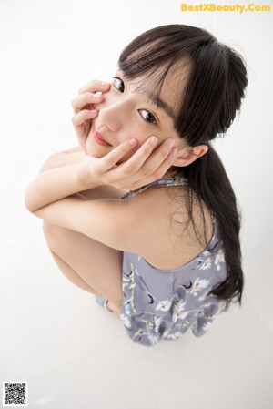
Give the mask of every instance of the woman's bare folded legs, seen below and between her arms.
[[[80, 196], [86, 200], [119, 199], [125, 190], [111, 186], [86, 190]], [[44, 222], [48, 247], [61, 271], [79, 288], [99, 294], [108, 300], [107, 306], [120, 311], [122, 300], [122, 258], [116, 251], [73, 230]]]

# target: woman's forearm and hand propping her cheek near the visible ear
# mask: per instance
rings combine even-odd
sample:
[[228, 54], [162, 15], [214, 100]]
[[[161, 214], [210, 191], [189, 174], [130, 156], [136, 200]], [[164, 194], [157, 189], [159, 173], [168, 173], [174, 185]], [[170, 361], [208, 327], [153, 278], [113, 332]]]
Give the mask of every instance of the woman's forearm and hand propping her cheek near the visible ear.
[[[57, 200], [86, 189], [105, 185], [137, 189], [160, 179], [172, 165], [174, 156], [167, 141], [156, 149], [154, 141], [155, 138], [148, 138], [131, 158], [120, 165], [116, 164], [136, 147], [136, 139], [122, 143], [103, 158], [86, 155], [80, 163], [40, 173], [26, 189], [26, 208], [35, 213]], [[41, 213], [39, 216], [42, 217]]]

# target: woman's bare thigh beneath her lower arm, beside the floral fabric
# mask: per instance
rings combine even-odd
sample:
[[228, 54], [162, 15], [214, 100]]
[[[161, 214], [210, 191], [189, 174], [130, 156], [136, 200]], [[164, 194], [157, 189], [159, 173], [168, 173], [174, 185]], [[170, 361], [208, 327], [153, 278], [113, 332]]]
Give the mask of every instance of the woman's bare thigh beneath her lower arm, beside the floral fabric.
[[49, 223], [44, 224], [44, 231], [51, 251], [66, 261], [90, 287], [120, 305], [122, 251], [111, 249], [77, 231]]

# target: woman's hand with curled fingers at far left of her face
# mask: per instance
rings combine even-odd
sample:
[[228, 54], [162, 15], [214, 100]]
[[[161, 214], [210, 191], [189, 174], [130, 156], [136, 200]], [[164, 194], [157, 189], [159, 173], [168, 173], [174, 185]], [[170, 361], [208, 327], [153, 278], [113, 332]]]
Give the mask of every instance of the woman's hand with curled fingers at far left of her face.
[[103, 93], [110, 89], [110, 83], [101, 81], [90, 81], [81, 87], [78, 97], [73, 99], [72, 107], [74, 117], [72, 123], [76, 130], [79, 146], [86, 152], [86, 138], [89, 134], [92, 119], [97, 117], [96, 104], [100, 104], [104, 97]]

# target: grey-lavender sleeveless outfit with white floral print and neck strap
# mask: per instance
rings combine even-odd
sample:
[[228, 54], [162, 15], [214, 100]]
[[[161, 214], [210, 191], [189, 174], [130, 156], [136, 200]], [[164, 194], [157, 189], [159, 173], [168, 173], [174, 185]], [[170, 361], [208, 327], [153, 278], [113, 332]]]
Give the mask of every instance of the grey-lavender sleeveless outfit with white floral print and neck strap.
[[[187, 184], [182, 177], [160, 179], [136, 192], [130, 199], [155, 186]], [[207, 332], [224, 302], [209, 291], [225, 281], [226, 263], [217, 221], [207, 248], [195, 259], [175, 270], [158, 270], [139, 255], [124, 252], [121, 319], [132, 341], [152, 346], [161, 340], [176, 340], [188, 328], [197, 337]]]

